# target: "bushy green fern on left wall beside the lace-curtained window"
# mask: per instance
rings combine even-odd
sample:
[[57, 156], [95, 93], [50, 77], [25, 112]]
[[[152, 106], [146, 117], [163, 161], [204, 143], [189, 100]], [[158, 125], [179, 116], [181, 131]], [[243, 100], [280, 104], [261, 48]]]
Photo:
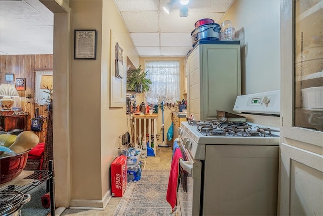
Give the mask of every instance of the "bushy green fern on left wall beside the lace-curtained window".
[[127, 76], [127, 89], [135, 90], [136, 93], [144, 93], [150, 90], [151, 80], [146, 78], [148, 71], [143, 72], [141, 65], [136, 70], [131, 70]]

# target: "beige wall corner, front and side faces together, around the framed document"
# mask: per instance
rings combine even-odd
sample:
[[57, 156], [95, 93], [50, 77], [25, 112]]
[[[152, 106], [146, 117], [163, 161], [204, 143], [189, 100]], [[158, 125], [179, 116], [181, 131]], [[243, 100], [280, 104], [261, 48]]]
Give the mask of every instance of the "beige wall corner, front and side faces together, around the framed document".
[[[128, 131], [125, 103], [109, 108], [110, 29], [124, 56], [134, 63], [138, 57], [113, 1], [70, 1], [70, 7], [72, 30], [97, 30], [97, 59], [72, 60], [70, 205], [103, 207], [110, 196], [109, 168], [118, 155], [119, 136]], [[126, 90], [125, 79], [122, 88]]]

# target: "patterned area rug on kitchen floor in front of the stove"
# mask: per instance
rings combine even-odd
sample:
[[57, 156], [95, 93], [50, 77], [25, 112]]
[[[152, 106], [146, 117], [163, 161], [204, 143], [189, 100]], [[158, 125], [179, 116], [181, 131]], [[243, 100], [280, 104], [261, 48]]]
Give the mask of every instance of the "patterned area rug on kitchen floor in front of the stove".
[[169, 170], [144, 169], [138, 182], [128, 182], [114, 215], [172, 215], [166, 201], [168, 177]]

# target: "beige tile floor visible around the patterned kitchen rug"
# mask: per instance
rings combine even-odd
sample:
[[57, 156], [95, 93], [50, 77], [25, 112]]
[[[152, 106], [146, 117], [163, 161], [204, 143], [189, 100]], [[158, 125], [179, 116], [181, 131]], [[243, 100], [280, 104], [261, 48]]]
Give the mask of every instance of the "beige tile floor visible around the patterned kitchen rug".
[[[146, 161], [145, 169], [152, 170], [170, 170], [172, 159], [172, 147], [156, 147], [156, 156], [142, 158], [142, 161]], [[140, 181], [140, 180], [139, 180]], [[117, 208], [121, 197], [112, 197], [107, 204], [105, 210], [76, 210], [66, 209], [61, 215], [104, 215], [112, 216]]]

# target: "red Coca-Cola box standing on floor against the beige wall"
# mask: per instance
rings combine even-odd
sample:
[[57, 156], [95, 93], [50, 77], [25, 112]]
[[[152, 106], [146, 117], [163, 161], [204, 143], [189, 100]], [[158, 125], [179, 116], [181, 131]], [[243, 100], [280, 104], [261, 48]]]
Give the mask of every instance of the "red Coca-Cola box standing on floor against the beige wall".
[[111, 196], [122, 197], [127, 188], [127, 157], [116, 157], [111, 163]]

